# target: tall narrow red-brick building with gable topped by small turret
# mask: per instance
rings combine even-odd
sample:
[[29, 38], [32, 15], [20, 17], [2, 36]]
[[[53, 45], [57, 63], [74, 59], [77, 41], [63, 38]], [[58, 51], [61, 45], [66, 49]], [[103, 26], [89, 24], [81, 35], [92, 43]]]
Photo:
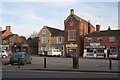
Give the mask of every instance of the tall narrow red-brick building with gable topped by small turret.
[[90, 21], [86, 21], [70, 10], [67, 19], [64, 20], [64, 48], [65, 54], [74, 51], [77, 56], [82, 56], [84, 39], [83, 36], [95, 31]]

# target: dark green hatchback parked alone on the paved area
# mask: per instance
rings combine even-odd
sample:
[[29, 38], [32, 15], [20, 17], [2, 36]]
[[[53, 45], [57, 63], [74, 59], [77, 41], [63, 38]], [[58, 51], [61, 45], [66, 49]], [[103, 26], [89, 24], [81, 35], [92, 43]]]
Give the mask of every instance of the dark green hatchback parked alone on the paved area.
[[26, 52], [15, 52], [10, 56], [10, 64], [13, 65], [14, 63], [19, 63], [20, 60], [20, 64], [24, 65], [26, 63], [31, 64], [31, 56], [26, 53]]

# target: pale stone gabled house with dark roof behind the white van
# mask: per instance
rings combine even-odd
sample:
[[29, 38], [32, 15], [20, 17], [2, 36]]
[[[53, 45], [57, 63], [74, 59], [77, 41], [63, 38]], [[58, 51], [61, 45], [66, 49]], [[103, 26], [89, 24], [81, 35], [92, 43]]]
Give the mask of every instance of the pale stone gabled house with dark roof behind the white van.
[[48, 26], [44, 26], [39, 34], [38, 53], [49, 51], [50, 49], [59, 49], [64, 55], [64, 31]]

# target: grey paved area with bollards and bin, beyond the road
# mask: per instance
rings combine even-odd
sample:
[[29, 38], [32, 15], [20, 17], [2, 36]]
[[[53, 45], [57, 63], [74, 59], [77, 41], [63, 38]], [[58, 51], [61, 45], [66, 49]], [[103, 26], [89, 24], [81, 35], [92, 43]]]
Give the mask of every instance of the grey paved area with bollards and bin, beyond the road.
[[[109, 60], [107, 59], [79, 59], [79, 67], [73, 69], [72, 58], [47, 58], [47, 64], [44, 68], [44, 57], [33, 56], [34, 63], [11, 66], [9, 63], [2, 65], [2, 70], [37, 70], [37, 71], [76, 71], [76, 72], [109, 72], [109, 73], [120, 73], [119, 60], [112, 61], [110, 69]], [[39, 60], [39, 61], [38, 61]], [[36, 62], [37, 61], [37, 62]]]

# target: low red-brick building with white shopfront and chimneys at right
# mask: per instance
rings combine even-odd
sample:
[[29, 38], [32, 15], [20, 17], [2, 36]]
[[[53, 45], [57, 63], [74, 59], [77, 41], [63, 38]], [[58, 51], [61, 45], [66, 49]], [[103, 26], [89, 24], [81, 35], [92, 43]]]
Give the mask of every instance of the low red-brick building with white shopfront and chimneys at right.
[[97, 25], [99, 29], [84, 37], [84, 56], [83, 57], [95, 57], [95, 58], [108, 58], [109, 54], [120, 53], [120, 30], [108, 30], [100, 31], [100, 25]]

